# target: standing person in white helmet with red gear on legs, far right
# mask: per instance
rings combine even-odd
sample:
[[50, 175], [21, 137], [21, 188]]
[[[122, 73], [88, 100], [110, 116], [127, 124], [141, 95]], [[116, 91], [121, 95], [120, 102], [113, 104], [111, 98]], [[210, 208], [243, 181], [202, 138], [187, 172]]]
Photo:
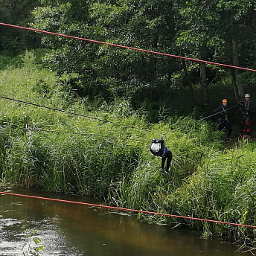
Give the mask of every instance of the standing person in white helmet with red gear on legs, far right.
[[243, 138], [248, 138], [250, 132], [250, 114], [252, 113], [252, 102], [250, 101], [251, 95], [247, 93], [244, 95], [245, 103], [242, 105], [242, 130], [243, 130]]

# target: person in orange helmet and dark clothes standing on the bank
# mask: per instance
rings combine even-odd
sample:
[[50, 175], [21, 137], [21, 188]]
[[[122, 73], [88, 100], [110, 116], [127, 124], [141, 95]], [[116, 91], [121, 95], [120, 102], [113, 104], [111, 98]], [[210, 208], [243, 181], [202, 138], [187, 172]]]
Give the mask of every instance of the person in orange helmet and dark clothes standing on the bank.
[[228, 100], [223, 99], [223, 104], [219, 107], [217, 107], [216, 109], [214, 109], [214, 113], [218, 113], [218, 120], [217, 120], [217, 124], [218, 124], [218, 129], [221, 131], [223, 130], [225, 132], [226, 135], [226, 141], [231, 141], [230, 135], [232, 132], [232, 127], [230, 124], [230, 121], [228, 119], [228, 110], [231, 109], [237, 109], [238, 106], [232, 106], [231, 108], [228, 108]]

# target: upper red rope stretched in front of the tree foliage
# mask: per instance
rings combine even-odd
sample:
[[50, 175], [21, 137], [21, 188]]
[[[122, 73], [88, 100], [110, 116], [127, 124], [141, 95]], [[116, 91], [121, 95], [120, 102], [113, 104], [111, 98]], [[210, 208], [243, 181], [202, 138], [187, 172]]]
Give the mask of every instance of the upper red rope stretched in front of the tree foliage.
[[163, 55], [163, 56], [167, 56], [167, 57], [175, 57], [175, 58], [184, 59], [184, 60], [192, 60], [192, 61], [196, 61], [196, 62], [199, 62], [199, 63], [220, 65], [220, 66], [228, 67], [228, 68], [238, 68], [238, 69], [243, 69], [243, 70], [246, 70], [246, 71], [255, 71], [256, 72], [256, 70], [252, 69], [252, 68], [242, 68], [242, 67], [239, 67], [239, 66], [236, 66], [236, 65], [226, 65], [226, 64], [222, 64], [222, 63], [214, 63], [214, 62], [206, 61], [206, 60], [197, 60], [197, 59], [193, 59], [193, 58], [189, 58], [189, 57], [182, 57], [182, 56], [173, 55], [173, 54], [164, 54], [164, 53], [161, 53], [159, 51], [149, 51], [149, 50], [144, 50], [144, 49], [141, 49], [141, 48], [134, 48], [134, 47], [124, 46], [124, 45], [116, 45], [116, 44], [112, 44], [110, 42], [100, 42], [100, 41], [97, 41], [97, 40], [86, 39], [86, 38], [77, 37], [77, 36], [68, 36], [68, 35], [65, 35], [63, 33], [54, 33], [54, 32], [48, 32], [48, 31], [41, 31], [39, 29], [26, 28], [26, 27], [21, 27], [21, 26], [17, 26], [17, 25], [10, 25], [10, 24], [7, 24], [7, 23], [2, 23], [2, 22], [0, 22], [0, 25], [12, 27], [12, 28], [21, 28], [21, 29], [25, 29], [27, 31], [35, 31], [35, 32], [39, 32], [39, 33], [48, 33], [48, 34], [51, 34], [51, 35], [54, 35], [54, 36], [63, 36], [63, 37], [83, 40], [83, 41], [87, 41], [87, 42], [95, 42], [95, 43], [102, 44], [102, 45], [111, 45], [111, 46], [126, 48], [126, 49], [134, 50], [134, 51], [143, 51], [143, 52], [147, 52], [149, 54], [159, 54], [159, 55]]

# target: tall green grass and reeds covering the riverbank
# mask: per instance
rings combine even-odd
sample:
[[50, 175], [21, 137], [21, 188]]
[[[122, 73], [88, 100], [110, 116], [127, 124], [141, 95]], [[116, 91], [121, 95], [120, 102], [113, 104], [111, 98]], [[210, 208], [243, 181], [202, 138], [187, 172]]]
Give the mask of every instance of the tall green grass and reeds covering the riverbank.
[[[51, 71], [33, 65], [33, 56], [27, 58], [21, 68], [0, 71], [0, 95], [110, 122], [0, 99], [2, 182], [95, 196], [127, 208], [256, 225], [255, 143], [240, 141], [228, 150], [223, 133], [214, 124], [195, 123], [193, 115], [147, 124], [127, 100], [99, 106], [77, 98]], [[160, 173], [161, 159], [150, 155], [151, 139], [161, 135], [173, 152], [170, 175]], [[138, 217], [255, 245], [250, 228]]]

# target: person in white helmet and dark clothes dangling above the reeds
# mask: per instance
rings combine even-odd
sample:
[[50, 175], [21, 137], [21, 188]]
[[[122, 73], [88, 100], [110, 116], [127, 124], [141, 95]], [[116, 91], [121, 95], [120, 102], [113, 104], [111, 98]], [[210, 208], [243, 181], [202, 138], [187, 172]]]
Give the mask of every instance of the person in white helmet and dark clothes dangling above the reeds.
[[[161, 138], [157, 140], [153, 138], [151, 141], [150, 152], [153, 156], [161, 157], [161, 172], [169, 174], [170, 163], [173, 159], [173, 153], [165, 147], [164, 140]], [[166, 170], [164, 170], [164, 164], [167, 159]]]

